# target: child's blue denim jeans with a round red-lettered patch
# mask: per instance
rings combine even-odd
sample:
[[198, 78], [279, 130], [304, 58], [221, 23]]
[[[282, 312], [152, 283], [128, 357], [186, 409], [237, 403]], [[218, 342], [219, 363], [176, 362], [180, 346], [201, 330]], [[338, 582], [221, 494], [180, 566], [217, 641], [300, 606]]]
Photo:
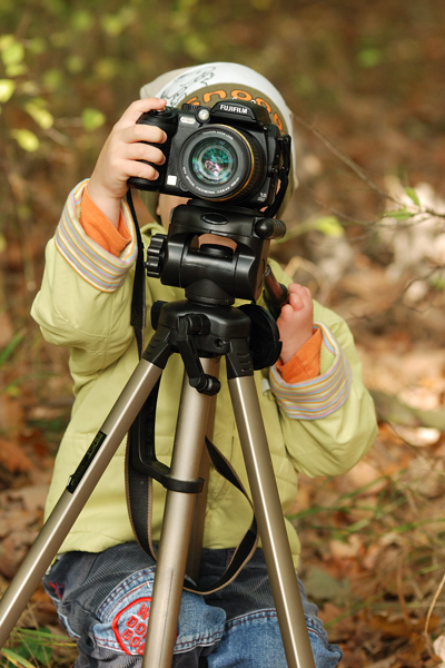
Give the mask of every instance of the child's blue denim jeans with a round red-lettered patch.
[[[226, 570], [231, 550], [204, 550], [200, 586]], [[61, 625], [76, 638], [76, 668], [140, 667], [150, 611], [155, 564], [137, 543], [105, 552], [60, 557], [43, 584]], [[317, 608], [299, 582], [317, 668], [334, 668], [342, 650], [329, 645]], [[261, 550], [234, 582], [211, 595], [184, 591], [174, 668], [285, 668], [277, 615]]]

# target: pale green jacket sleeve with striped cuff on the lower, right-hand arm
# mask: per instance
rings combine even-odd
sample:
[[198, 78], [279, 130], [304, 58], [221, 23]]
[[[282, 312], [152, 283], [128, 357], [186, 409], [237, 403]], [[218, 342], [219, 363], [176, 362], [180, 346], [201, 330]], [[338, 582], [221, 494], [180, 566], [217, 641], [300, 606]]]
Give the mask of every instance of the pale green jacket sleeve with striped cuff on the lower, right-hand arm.
[[[276, 276], [288, 283], [279, 267]], [[373, 444], [376, 414], [347, 324], [316, 302], [314, 320], [323, 333], [319, 376], [291, 385], [271, 367], [269, 383], [297, 471], [336, 475], [354, 466]]]

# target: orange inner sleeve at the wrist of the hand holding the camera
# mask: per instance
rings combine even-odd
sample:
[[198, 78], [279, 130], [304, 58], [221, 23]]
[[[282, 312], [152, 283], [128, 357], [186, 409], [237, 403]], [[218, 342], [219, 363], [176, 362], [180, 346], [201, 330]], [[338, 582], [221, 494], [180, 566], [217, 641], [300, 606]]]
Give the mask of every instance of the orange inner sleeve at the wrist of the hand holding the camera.
[[123, 216], [120, 214], [118, 228], [110, 223], [99, 207], [88, 195], [88, 188], [85, 188], [80, 209], [80, 224], [86, 234], [99, 244], [105, 250], [118, 257], [127, 244], [131, 240], [131, 235], [127, 229]]

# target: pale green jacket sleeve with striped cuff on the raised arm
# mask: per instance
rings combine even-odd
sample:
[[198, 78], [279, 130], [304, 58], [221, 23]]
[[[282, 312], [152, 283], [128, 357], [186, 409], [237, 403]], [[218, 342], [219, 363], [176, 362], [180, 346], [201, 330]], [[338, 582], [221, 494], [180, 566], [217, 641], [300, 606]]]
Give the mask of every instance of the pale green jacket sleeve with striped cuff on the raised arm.
[[86, 183], [70, 193], [47, 245], [42, 285], [31, 315], [46, 341], [71, 348], [71, 372], [93, 376], [116, 362], [134, 338], [130, 308], [137, 242], [125, 203], [122, 215], [131, 242], [119, 257], [85, 234], [79, 214]]

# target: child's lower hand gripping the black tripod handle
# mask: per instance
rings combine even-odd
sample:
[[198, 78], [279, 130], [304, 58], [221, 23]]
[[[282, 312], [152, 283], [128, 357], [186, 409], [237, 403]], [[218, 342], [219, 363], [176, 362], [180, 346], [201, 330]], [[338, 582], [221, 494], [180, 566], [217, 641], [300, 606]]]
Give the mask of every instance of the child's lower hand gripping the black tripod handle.
[[277, 320], [279, 336], [283, 343], [281, 362], [287, 364], [295, 353], [313, 335], [314, 305], [310, 291], [298, 283], [288, 287], [289, 303], [285, 304]]

